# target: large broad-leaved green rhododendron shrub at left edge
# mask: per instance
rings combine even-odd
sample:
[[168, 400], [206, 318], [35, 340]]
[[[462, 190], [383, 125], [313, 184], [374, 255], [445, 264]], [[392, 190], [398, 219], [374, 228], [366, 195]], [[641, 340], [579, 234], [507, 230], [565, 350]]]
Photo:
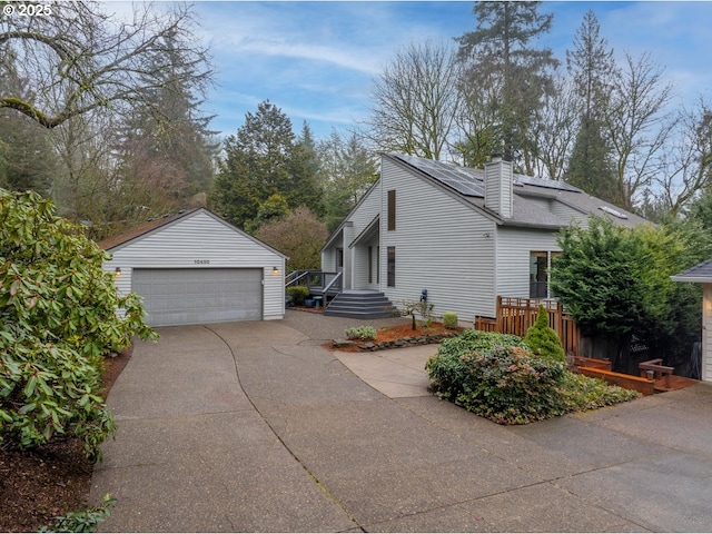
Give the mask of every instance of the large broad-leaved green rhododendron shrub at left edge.
[[50, 201], [0, 189], [0, 441], [77, 437], [97, 459], [115, 433], [102, 355], [157, 336], [140, 297], [117, 294], [107, 257]]

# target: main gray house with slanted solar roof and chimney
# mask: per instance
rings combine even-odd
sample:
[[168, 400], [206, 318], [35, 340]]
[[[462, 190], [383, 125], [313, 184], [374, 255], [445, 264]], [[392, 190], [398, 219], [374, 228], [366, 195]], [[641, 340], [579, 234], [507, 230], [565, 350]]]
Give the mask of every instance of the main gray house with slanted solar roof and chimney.
[[495, 317], [497, 295], [550, 297], [556, 233], [590, 214], [624, 226], [645, 219], [562, 181], [400, 154], [382, 158], [379, 180], [328, 238], [322, 270], [346, 291], [383, 291], [396, 306], [427, 290], [434, 314]]

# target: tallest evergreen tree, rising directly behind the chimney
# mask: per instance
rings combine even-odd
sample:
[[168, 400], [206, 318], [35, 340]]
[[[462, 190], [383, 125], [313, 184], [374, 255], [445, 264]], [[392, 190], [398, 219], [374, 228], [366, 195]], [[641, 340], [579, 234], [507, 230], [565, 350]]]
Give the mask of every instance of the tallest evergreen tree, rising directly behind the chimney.
[[534, 165], [536, 113], [553, 90], [551, 69], [558, 63], [551, 49], [532, 44], [548, 32], [553, 19], [538, 13], [540, 4], [476, 2], [477, 29], [457, 39], [466, 68], [463, 87], [491, 88], [486, 105], [496, 113], [504, 156], [527, 174]]

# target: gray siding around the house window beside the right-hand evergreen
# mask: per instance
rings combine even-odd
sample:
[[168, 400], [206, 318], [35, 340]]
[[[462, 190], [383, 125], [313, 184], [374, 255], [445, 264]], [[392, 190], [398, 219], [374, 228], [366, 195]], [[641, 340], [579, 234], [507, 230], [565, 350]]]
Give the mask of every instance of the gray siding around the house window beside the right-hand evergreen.
[[528, 297], [530, 253], [561, 250], [555, 234], [516, 227], [497, 228], [496, 294]]

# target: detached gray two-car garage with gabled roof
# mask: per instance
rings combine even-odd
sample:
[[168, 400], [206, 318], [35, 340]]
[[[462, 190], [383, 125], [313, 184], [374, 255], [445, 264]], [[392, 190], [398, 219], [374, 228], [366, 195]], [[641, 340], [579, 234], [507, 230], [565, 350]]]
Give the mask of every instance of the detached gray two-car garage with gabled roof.
[[205, 208], [99, 243], [120, 291], [144, 297], [151, 326], [281, 319], [286, 256]]

